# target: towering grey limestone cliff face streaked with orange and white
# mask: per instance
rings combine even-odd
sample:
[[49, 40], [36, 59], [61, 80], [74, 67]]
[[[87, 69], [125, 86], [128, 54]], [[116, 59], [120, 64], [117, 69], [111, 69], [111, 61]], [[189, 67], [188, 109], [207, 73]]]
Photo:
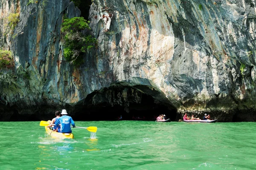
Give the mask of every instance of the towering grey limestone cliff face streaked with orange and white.
[[[12, 34], [5, 18], [15, 12]], [[16, 65], [2, 70], [0, 120], [103, 104], [129, 113], [146, 94], [176, 119], [187, 111], [256, 121], [254, 0], [94, 0], [89, 19], [98, 42], [79, 68], [62, 55], [63, 17], [80, 15], [73, 2], [0, 0], [0, 13], [0, 47]]]

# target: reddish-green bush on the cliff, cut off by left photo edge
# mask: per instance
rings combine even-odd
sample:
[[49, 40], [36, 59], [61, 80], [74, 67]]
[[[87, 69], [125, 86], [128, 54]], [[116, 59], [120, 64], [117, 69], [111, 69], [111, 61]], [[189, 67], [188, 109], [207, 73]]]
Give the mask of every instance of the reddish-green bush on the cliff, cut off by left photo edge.
[[12, 52], [7, 50], [0, 50], [0, 69], [10, 68], [14, 66]]

